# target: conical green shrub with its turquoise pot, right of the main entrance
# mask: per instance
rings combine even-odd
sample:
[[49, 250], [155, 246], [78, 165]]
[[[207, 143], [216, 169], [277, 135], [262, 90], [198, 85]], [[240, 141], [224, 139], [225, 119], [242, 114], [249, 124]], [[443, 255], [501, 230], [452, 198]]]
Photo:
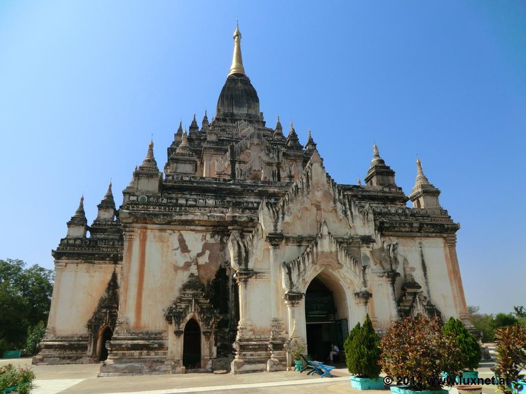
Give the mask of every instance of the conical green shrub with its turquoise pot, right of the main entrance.
[[345, 354], [347, 369], [351, 374], [351, 387], [358, 390], [383, 389], [383, 379], [379, 378], [382, 368], [380, 359], [380, 338], [372, 328], [369, 315], [363, 326], [359, 324], [352, 329], [346, 340]]

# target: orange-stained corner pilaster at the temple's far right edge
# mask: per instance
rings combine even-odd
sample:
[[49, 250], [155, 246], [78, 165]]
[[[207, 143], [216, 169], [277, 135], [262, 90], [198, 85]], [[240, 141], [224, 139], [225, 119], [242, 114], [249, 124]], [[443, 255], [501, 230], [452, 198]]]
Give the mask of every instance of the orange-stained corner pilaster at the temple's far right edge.
[[[466, 296], [464, 296], [464, 287], [462, 286], [462, 277], [460, 276], [459, 261], [457, 256], [457, 235], [453, 234], [446, 237], [447, 258], [449, 281], [453, 291], [453, 301], [461, 322], [467, 329], [474, 330], [473, 324], [469, 318], [468, 306], [466, 305]], [[449, 258], [448, 258], [449, 257]]]

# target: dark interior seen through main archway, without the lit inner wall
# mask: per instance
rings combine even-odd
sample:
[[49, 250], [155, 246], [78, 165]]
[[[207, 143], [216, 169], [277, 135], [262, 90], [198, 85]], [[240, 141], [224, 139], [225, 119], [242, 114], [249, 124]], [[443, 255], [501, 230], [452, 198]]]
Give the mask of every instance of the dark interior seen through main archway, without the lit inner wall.
[[337, 340], [336, 307], [330, 289], [319, 278], [312, 279], [305, 293], [305, 321], [309, 355], [318, 361], [329, 357], [331, 342], [340, 351]]

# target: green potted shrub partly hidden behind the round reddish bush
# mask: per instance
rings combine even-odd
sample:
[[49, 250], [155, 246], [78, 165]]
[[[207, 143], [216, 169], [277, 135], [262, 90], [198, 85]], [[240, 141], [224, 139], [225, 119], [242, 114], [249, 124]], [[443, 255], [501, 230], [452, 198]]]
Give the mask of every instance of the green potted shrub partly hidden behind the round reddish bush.
[[467, 379], [477, 379], [479, 377], [479, 372], [476, 369], [479, 367], [482, 355], [477, 339], [469, 333], [459, 319], [454, 317], [449, 318], [442, 330], [444, 334], [453, 334], [464, 359], [464, 370], [455, 379], [457, 382], [461, 382], [460, 379], [462, 378], [464, 380], [462, 383], [469, 384], [470, 381]]

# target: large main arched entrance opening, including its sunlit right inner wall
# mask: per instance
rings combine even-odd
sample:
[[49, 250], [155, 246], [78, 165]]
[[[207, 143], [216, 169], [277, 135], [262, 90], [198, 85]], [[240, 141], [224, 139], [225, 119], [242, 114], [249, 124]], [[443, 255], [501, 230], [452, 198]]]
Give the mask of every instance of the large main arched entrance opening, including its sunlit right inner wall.
[[[307, 349], [312, 358], [323, 361], [329, 357], [330, 344], [343, 350], [349, 335], [345, 292], [322, 274], [312, 279], [305, 292], [305, 323]], [[332, 289], [335, 291], [333, 292]]]

